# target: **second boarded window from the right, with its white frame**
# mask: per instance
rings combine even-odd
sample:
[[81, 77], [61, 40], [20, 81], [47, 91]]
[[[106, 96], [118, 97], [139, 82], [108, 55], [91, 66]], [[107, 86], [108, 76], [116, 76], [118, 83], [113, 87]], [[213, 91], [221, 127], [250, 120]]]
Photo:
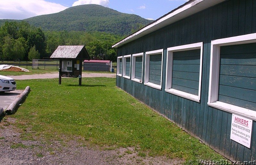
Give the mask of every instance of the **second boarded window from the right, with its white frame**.
[[165, 91], [200, 102], [203, 43], [167, 49]]

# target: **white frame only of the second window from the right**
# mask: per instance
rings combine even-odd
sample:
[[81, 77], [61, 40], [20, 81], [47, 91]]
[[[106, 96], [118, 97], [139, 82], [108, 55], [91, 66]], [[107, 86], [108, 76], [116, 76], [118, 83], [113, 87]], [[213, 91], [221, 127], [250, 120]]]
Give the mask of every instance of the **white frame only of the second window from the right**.
[[[180, 52], [186, 50], [200, 49], [200, 71], [199, 71], [199, 87], [198, 95], [193, 95], [177, 89], [172, 88], [172, 65], [173, 65], [173, 52]], [[167, 66], [166, 66], [166, 82], [165, 82], [165, 91], [174, 95], [185, 97], [196, 102], [200, 102], [201, 96], [201, 80], [202, 80], [202, 55], [203, 55], [203, 43], [194, 43], [188, 45], [180, 45], [167, 48]]]

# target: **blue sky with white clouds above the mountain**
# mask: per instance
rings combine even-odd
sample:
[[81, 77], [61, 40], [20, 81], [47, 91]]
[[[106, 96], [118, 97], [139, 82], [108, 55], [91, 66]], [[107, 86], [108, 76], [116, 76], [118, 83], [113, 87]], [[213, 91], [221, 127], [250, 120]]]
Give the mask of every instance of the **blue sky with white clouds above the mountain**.
[[118, 12], [156, 20], [188, 0], [0, 0], [0, 19], [22, 20], [72, 6], [99, 4]]

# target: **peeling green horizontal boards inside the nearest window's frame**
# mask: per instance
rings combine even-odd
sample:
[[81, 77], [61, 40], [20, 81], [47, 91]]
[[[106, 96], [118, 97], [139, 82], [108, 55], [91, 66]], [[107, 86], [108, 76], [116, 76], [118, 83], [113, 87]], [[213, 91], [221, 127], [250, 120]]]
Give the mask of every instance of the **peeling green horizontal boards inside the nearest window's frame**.
[[218, 98], [256, 111], [256, 43], [220, 47]]

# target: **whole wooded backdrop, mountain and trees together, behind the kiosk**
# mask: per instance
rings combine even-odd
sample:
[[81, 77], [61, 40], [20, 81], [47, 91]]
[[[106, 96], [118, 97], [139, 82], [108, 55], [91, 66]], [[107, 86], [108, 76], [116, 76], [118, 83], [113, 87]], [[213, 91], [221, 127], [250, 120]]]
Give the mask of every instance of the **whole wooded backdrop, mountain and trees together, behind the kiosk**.
[[0, 20], [0, 60], [50, 57], [58, 45], [85, 45], [91, 57], [116, 61], [111, 45], [152, 21], [96, 4], [25, 20]]

